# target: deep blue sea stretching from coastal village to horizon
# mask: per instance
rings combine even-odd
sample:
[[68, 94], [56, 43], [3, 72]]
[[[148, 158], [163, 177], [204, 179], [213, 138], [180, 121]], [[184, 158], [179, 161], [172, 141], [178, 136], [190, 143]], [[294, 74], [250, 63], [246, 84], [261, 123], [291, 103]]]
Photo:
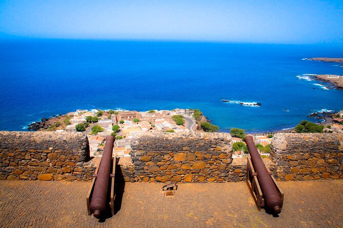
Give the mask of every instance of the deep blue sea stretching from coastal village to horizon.
[[[199, 108], [219, 125], [250, 132], [294, 127], [322, 108], [343, 108], [343, 90], [301, 74], [340, 74], [342, 47], [92, 40], [0, 41], [0, 130], [76, 109]], [[315, 89], [314, 89], [315, 88]], [[221, 99], [260, 102], [261, 107]], [[289, 111], [285, 111], [288, 109]]]

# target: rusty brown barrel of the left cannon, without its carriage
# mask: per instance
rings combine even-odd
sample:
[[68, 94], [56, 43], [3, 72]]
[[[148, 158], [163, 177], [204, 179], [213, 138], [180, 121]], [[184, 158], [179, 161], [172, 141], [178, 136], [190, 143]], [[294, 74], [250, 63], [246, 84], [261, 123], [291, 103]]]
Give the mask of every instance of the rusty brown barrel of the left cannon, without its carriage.
[[90, 212], [94, 214], [94, 217], [96, 218], [103, 217], [107, 208], [107, 192], [110, 179], [114, 139], [115, 138], [113, 136], [106, 137], [103, 157], [98, 168], [94, 190], [89, 205]]

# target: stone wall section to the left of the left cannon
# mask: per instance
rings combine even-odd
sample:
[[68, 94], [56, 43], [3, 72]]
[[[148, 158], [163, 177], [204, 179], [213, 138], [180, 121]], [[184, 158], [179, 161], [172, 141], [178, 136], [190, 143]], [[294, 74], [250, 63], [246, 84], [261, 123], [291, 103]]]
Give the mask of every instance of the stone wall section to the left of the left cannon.
[[89, 158], [83, 133], [0, 131], [0, 179], [88, 181]]

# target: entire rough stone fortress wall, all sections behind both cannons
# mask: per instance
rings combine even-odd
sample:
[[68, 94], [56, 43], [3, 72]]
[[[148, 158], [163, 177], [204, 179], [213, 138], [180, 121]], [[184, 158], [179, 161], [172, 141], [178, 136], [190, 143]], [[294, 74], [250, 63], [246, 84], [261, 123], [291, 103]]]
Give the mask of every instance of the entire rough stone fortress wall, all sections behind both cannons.
[[[138, 133], [125, 181], [225, 182], [246, 179], [246, 158], [232, 159], [227, 133]], [[277, 180], [343, 178], [343, 135], [276, 133], [267, 165]], [[76, 132], [0, 131], [0, 179], [92, 179], [87, 136]]]

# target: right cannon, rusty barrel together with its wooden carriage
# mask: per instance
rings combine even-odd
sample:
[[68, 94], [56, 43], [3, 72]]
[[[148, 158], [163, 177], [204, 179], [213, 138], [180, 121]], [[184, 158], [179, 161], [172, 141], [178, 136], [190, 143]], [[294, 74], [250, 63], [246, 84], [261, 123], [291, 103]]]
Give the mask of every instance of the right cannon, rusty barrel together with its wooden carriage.
[[[250, 178], [255, 178], [250, 182], [251, 191], [254, 192], [255, 200], [259, 206], [265, 206], [272, 214], [277, 215], [281, 212], [284, 195], [276, 184], [272, 173], [268, 170], [257, 151], [251, 135], [246, 136], [244, 141], [247, 144], [251, 160], [248, 158], [247, 182]], [[252, 164], [252, 167], [250, 167]], [[250, 174], [249, 174], [250, 170]], [[251, 171], [253, 170], [253, 171]], [[257, 176], [257, 183], [256, 183]], [[248, 183], [249, 184], [249, 183]], [[249, 185], [248, 185], [249, 186]], [[258, 191], [261, 192], [258, 200]]]

